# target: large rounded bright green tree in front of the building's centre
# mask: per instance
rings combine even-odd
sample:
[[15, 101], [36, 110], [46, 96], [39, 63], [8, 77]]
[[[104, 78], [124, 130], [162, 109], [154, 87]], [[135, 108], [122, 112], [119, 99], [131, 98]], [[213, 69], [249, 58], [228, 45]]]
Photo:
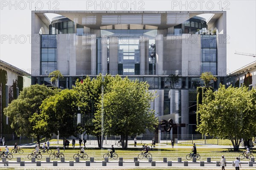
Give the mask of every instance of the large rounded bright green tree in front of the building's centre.
[[121, 136], [123, 148], [128, 146], [128, 136], [145, 133], [146, 129], [154, 130], [158, 123], [154, 111], [150, 110], [154, 94], [148, 87], [147, 82], [116, 76], [111, 82], [111, 91], [103, 96], [103, 111], [98, 109], [98, 115], [104, 115], [104, 132]]

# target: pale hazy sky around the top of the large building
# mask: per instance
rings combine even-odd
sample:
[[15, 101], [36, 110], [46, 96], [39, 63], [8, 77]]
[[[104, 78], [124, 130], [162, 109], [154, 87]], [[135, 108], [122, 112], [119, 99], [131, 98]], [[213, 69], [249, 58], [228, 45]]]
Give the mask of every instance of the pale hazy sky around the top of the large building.
[[[31, 11], [227, 11], [227, 74], [256, 61], [256, 0], [0, 0], [0, 59], [31, 73]], [[48, 15], [52, 17], [52, 15]]]

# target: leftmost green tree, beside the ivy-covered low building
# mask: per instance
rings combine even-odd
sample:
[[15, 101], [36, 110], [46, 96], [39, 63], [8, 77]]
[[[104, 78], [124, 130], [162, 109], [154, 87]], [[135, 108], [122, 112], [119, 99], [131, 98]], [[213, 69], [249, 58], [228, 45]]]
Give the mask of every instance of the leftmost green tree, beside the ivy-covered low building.
[[29, 119], [33, 115], [40, 114], [39, 107], [43, 100], [55, 93], [56, 90], [49, 89], [44, 85], [31, 85], [24, 88], [18, 98], [4, 109], [4, 114], [9, 117], [12, 122], [11, 127], [15, 129], [18, 136], [37, 137], [37, 141], [40, 142], [40, 135], [50, 135], [49, 131], [34, 129], [35, 122], [30, 122]]

